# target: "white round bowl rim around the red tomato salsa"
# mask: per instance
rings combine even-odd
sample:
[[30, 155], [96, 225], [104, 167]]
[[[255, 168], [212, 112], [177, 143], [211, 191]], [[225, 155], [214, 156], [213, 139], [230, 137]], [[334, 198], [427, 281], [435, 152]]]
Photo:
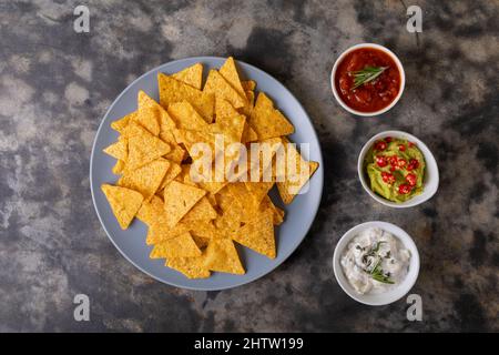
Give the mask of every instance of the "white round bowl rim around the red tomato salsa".
[[[380, 50], [385, 53], [387, 53], [389, 57], [391, 57], [391, 59], [395, 61], [395, 63], [397, 64], [398, 71], [400, 72], [400, 90], [398, 91], [398, 95], [395, 98], [394, 101], [391, 101], [391, 103], [389, 105], [387, 105], [386, 108], [379, 110], [379, 111], [375, 111], [375, 112], [361, 112], [361, 111], [357, 111], [355, 109], [352, 109], [350, 106], [348, 106], [339, 97], [338, 92], [336, 91], [336, 85], [335, 85], [335, 79], [336, 79], [336, 70], [339, 65], [339, 63], [343, 61], [343, 59], [352, 51], [359, 49], [359, 48], [375, 48], [377, 50]], [[344, 108], [345, 110], [347, 110], [348, 112], [356, 114], [356, 115], [363, 115], [363, 116], [373, 116], [373, 115], [379, 115], [381, 113], [387, 112], [389, 109], [391, 109], [393, 106], [395, 106], [395, 104], [398, 102], [398, 100], [400, 100], [401, 94], [404, 92], [404, 88], [406, 87], [406, 73], [404, 72], [404, 67], [400, 62], [400, 60], [398, 59], [397, 55], [395, 55], [395, 53], [393, 51], [390, 51], [388, 48], [379, 45], [379, 44], [375, 44], [375, 43], [360, 43], [360, 44], [356, 44], [353, 45], [350, 48], [348, 48], [346, 51], [344, 51], [338, 59], [336, 59], [335, 64], [333, 65], [333, 70], [330, 72], [330, 87], [333, 88], [333, 94], [335, 95], [336, 101], [338, 101], [338, 103], [342, 105], [342, 108]]]

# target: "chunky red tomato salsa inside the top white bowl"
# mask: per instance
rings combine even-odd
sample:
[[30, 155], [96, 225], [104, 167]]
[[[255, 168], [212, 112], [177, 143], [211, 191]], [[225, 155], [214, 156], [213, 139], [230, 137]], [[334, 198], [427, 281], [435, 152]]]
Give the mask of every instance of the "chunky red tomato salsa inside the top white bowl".
[[[356, 77], [381, 71], [375, 79], [356, 84]], [[395, 60], [375, 48], [353, 50], [339, 62], [335, 75], [336, 92], [350, 109], [376, 112], [388, 106], [400, 91], [400, 71]], [[368, 77], [364, 77], [368, 78]]]

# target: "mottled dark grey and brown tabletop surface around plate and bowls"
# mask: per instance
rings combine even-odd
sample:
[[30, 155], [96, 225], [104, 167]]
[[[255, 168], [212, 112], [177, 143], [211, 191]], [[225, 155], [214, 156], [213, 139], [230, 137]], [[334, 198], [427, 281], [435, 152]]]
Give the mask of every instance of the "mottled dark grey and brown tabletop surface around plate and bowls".
[[[0, 0], [0, 331], [499, 331], [497, 1], [80, 1]], [[424, 32], [406, 31], [406, 6]], [[347, 114], [329, 71], [347, 47], [393, 49], [407, 75], [401, 101], [380, 118]], [[305, 242], [269, 275], [232, 291], [192, 292], [135, 270], [104, 234], [89, 189], [98, 125], [145, 71], [191, 55], [228, 55], [279, 79], [308, 111], [325, 156], [320, 212]], [[386, 129], [414, 133], [436, 154], [437, 195], [385, 207], [356, 175], [363, 143]], [[368, 307], [336, 284], [342, 234], [383, 220], [415, 239], [407, 305]], [[91, 322], [73, 321], [73, 296]]]

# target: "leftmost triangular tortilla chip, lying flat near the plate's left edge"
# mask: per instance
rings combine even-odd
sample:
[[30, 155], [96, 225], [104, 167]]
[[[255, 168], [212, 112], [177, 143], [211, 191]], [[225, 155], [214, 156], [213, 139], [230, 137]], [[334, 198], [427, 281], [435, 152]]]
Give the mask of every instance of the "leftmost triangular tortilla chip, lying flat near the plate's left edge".
[[108, 199], [114, 216], [122, 230], [126, 230], [142, 204], [142, 194], [136, 191], [102, 184], [101, 190]]

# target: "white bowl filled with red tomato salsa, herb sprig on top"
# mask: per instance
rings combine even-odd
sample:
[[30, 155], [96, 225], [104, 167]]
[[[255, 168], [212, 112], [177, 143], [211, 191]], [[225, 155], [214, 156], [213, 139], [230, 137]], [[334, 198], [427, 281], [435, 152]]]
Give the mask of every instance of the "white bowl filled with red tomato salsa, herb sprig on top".
[[400, 99], [404, 87], [405, 73], [399, 59], [379, 44], [350, 47], [333, 67], [333, 93], [345, 110], [357, 115], [388, 111]]

